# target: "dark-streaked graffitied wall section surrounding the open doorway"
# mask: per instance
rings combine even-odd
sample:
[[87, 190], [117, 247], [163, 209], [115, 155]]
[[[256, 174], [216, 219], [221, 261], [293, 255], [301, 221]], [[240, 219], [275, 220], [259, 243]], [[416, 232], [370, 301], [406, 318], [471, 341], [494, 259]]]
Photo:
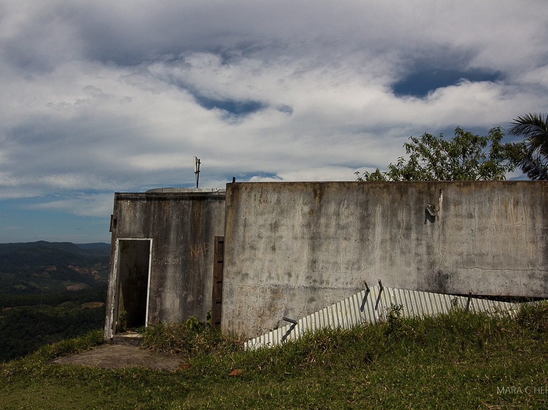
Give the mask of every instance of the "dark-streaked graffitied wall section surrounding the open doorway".
[[224, 236], [225, 192], [158, 189], [116, 193], [105, 338], [118, 317], [117, 240], [151, 238], [149, 323], [189, 316], [205, 321], [212, 309], [214, 237]]

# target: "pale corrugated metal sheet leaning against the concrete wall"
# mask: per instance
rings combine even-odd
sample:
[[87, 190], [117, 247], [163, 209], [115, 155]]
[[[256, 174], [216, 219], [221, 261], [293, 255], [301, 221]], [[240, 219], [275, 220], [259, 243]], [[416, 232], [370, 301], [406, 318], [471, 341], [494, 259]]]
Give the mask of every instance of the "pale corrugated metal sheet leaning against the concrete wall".
[[402, 316], [425, 316], [448, 313], [452, 308], [468, 307], [472, 312], [492, 314], [515, 313], [520, 304], [499, 302], [487, 299], [458, 297], [440, 293], [408, 291], [380, 286], [368, 289], [343, 299], [338, 303], [318, 310], [272, 332], [248, 340], [246, 348], [275, 346], [288, 339], [296, 339], [303, 332], [315, 329], [349, 328], [363, 322], [378, 322], [386, 317], [392, 305], [402, 305]]

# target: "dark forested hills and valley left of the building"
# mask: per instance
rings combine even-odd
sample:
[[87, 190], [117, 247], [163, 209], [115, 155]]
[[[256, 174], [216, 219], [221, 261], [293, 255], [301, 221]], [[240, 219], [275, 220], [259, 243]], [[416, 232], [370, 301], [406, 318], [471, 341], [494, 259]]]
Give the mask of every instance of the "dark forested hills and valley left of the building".
[[104, 326], [110, 245], [0, 244], [0, 362]]

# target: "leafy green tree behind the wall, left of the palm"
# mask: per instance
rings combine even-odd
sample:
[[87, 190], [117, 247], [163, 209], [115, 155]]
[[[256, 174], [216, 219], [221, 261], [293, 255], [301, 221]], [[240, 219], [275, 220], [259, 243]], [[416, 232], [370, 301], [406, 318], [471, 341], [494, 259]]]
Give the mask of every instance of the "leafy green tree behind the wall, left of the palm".
[[373, 173], [356, 172], [358, 181], [475, 181], [504, 180], [515, 168], [519, 144], [501, 144], [504, 133], [500, 127], [479, 136], [459, 128], [452, 139], [443, 134], [410, 136], [403, 146], [409, 159], [399, 157], [387, 172], [378, 168]]

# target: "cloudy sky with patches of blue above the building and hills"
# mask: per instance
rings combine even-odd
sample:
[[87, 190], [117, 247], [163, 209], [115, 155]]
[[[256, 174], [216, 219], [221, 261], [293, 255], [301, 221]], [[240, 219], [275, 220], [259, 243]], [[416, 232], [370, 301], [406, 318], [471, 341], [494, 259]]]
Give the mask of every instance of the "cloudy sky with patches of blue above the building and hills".
[[352, 181], [546, 113], [545, 5], [0, 0], [0, 242], [110, 242], [113, 193], [194, 156], [200, 187]]

